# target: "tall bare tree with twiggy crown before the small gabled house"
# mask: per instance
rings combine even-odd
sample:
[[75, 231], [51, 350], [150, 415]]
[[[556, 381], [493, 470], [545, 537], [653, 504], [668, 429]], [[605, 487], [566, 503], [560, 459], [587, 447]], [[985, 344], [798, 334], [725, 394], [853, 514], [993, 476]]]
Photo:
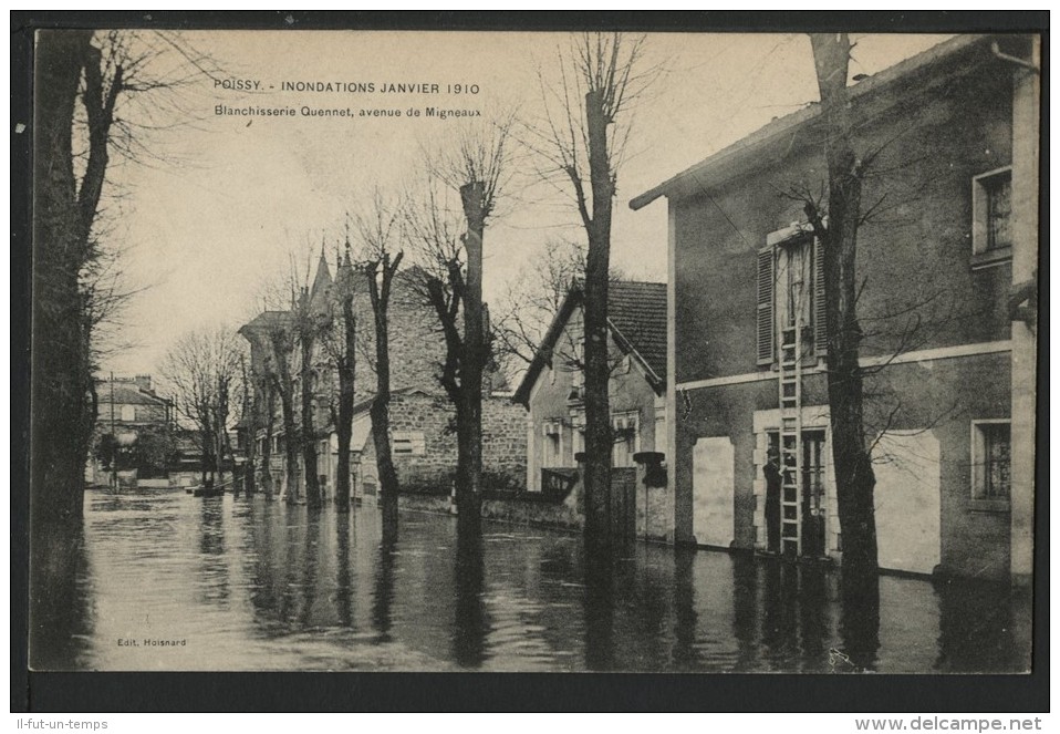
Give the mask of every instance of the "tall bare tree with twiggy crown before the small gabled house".
[[611, 541], [611, 451], [607, 397], [607, 285], [611, 221], [632, 107], [658, 75], [644, 59], [644, 37], [584, 33], [560, 53], [560, 81], [542, 80], [545, 121], [528, 137], [542, 174], [569, 190], [589, 238], [585, 262], [585, 536]]

